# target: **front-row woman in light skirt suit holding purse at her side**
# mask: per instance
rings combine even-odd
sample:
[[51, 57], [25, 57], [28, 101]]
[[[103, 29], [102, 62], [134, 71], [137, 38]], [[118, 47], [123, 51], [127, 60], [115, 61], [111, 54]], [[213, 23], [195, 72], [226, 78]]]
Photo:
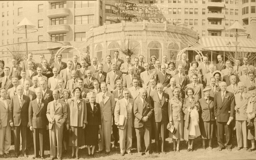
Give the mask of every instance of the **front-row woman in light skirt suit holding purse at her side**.
[[[179, 97], [180, 95], [180, 86], [176, 86], [173, 90], [174, 96], [169, 100], [168, 104], [168, 116], [170, 125], [174, 125], [177, 129], [173, 134], [169, 132], [169, 137], [172, 138], [173, 141], [173, 151], [180, 152], [180, 139], [183, 138], [183, 111], [182, 111], [182, 99]], [[176, 148], [176, 140], [177, 140], [177, 148]]]

